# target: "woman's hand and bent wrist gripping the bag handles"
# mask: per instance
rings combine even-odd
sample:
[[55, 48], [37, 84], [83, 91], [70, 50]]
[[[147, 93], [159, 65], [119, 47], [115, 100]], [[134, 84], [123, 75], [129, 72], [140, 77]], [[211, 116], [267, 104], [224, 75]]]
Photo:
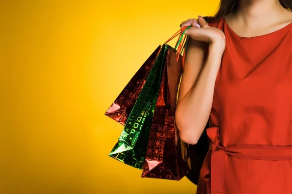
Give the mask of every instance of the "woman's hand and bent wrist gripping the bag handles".
[[181, 24], [181, 27], [189, 27], [190, 29], [185, 31], [185, 35], [190, 36], [194, 40], [199, 40], [208, 43], [212, 47], [225, 49], [225, 35], [224, 33], [215, 27], [210, 27], [205, 19], [201, 16], [197, 19], [188, 19]]

